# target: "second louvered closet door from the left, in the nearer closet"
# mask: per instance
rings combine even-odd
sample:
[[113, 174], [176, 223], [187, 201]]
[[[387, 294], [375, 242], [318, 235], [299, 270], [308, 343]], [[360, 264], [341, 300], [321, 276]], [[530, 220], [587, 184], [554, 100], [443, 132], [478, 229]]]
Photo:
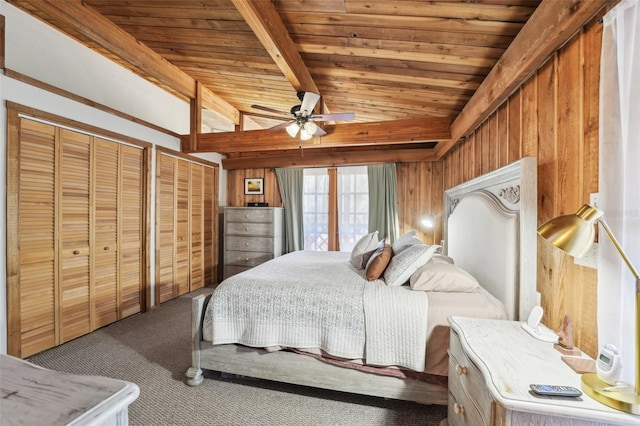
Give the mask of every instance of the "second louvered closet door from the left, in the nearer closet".
[[60, 130], [60, 341], [91, 331], [89, 224], [91, 137]]

